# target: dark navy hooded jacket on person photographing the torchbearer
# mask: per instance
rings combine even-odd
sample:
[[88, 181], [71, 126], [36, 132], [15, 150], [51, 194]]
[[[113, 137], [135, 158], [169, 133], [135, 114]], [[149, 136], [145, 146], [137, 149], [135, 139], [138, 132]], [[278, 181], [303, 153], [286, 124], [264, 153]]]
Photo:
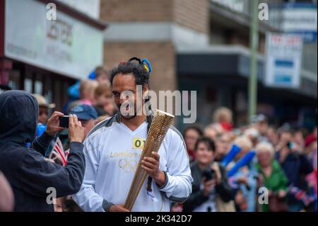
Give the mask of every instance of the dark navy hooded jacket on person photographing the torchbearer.
[[[78, 192], [83, 181], [80, 142], [71, 142], [65, 167], [45, 161], [52, 137], [44, 133], [35, 139], [38, 112], [36, 99], [25, 91], [0, 94], [0, 171], [13, 188], [16, 211], [53, 211], [47, 188], [55, 188], [58, 198]], [[32, 140], [33, 148], [26, 147]]]

